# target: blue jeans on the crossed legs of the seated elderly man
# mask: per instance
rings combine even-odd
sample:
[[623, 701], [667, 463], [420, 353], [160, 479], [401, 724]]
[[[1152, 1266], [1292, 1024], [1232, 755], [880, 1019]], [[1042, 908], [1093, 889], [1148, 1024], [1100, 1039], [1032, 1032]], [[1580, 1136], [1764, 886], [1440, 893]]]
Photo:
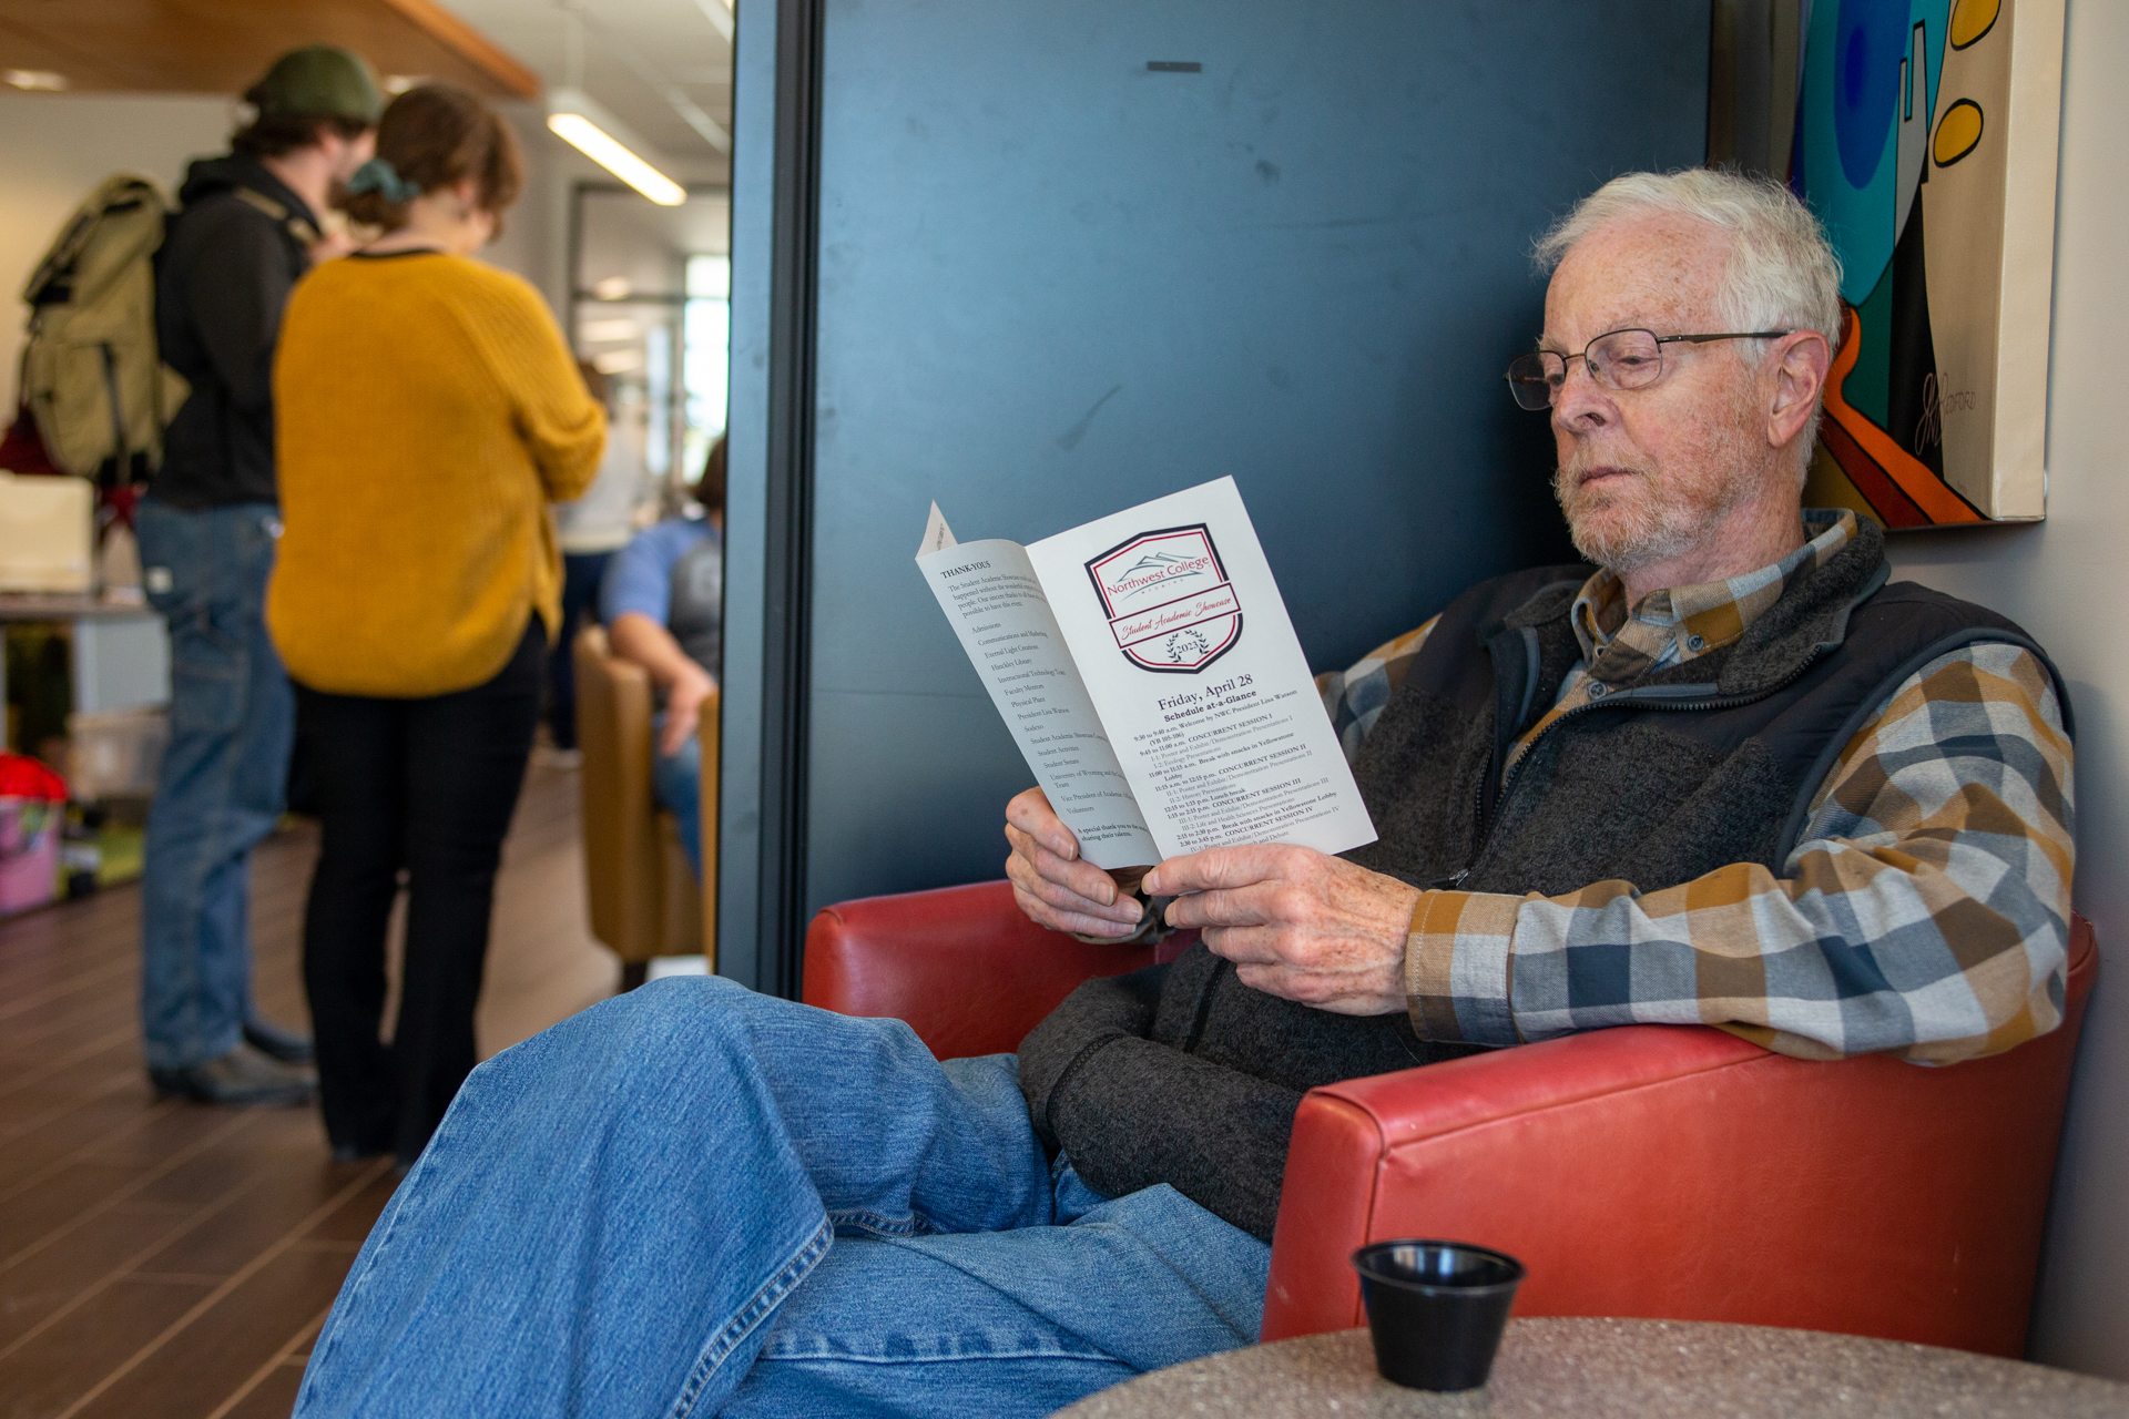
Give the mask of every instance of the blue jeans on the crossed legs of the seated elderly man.
[[296, 1415], [1047, 1415], [1254, 1342], [1269, 1257], [1052, 1168], [1013, 1055], [677, 976], [473, 1072]]

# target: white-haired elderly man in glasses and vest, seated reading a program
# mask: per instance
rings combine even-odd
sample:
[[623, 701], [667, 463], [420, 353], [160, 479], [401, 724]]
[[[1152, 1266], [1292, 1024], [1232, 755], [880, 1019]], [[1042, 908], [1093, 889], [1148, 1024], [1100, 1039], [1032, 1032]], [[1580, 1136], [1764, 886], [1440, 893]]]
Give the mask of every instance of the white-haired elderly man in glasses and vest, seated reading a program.
[[[669, 981], [481, 1066], [300, 1415], [1043, 1415], [1256, 1340], [1314, 1085], [1631, 1021], [1948, 1064], [2061, 1019], [2072, 747], [2012, 623], [1799, 506], [1837, 266], [1784, 189], [1607, 183], [1539, 243], [1588, 566], [1469, 589], [1324, 700], [1382, 840], [1143, 881], [1007, 806], [1022, 908], [1205, 928], [1018, 1055]], [[1571, 1159], [1563, 1159], [1571, 1162]], [[1484, 1187], [1484, 1179], [1473, 1179]]]

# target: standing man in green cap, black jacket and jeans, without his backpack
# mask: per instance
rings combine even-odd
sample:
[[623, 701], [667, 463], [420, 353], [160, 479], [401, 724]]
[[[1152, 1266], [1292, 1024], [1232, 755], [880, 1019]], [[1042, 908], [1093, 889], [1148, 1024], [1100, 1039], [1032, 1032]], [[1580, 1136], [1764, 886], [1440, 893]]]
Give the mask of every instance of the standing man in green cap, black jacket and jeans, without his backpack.
[[[194, 162], [155, 262], [162, 357], [189, 385], [136, 513], [170, 623], [170, 747], [147, 825], [141, 1017], [160, 1098], [302, 1104], [311, 1040], [251, 1004], [249, 855], [281, 817], [294, 696], [266, 636], [281, 532], [273, 355], [319, 215], [370, 157], [383, 96], [328, 45], [275, 62], [224, 157]], [[379, 983], [381, 985], [381, 983]]]

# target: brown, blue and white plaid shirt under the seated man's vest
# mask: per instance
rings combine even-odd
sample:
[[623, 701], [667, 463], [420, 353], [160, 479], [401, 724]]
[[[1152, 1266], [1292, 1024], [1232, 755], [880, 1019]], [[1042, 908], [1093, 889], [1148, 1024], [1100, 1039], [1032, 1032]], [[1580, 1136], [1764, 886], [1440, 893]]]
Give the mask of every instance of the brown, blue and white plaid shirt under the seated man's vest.
[[[1573, 606], [1580, 662], [1556, 715], [1646, 670], [1729, 645], [1852, 513], [1769, 568], [1624, 606], [1597, 572]], [[1324, 708], [1354, 759], [1435, 621], [1341, 674]], [[1514, 772], [1512, 768], [1507, 772]], [[2061, 1023], [2069, 942], [2072, 745], [2054, 683], [2014, 645], [1950, 651], [1848, 740], [1795, 851], [1641, 891], [1426, 891], [1405, 940], [1414, 1028], [1518, 1045], [1629, 1023], [1718, 1025], [1805, 1059], [1884, 1051], [1916, 1064], [1988, 1055]]]

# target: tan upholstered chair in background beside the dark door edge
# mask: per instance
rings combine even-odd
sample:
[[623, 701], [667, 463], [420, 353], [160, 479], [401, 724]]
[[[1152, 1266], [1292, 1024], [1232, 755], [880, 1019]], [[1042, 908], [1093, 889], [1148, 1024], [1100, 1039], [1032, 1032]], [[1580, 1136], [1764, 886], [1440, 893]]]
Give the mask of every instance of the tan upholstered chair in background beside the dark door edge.
[[622, 957], [637, 985], [656, 955], [707, 955], [717, 968], [717, 696], [703, 704], [703, 883], [696, 885], [673, 815], [651, 798], [651, 677], [611, 653], [588, 625], [577, 662], [577, 745], [583, 751], [583, 885], [592, 936]]

